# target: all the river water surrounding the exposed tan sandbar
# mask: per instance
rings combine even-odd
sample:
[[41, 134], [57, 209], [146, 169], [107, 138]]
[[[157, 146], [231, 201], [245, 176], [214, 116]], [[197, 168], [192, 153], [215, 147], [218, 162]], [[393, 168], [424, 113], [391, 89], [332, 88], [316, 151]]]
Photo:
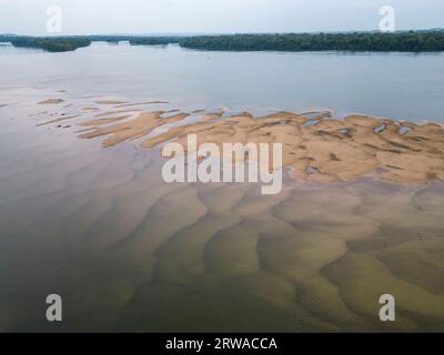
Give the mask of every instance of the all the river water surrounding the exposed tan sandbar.
[[[167, 184], [158, 149], [77, 136], [111, 99], [442, 121], [443, 59], [0, 48], [0, 331], [444, 331], [442, 183]], [[396, 322], [380, 321], [384, 294]]]

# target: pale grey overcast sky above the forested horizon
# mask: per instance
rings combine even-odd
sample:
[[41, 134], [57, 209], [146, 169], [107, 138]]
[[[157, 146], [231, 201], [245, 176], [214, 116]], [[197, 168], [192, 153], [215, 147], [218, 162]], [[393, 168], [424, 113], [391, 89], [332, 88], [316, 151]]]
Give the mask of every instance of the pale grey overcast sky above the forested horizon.
[[51, 4], [62, 34], [377, 30], [384, 4], [397, 30], [444, 28], [444, 0], [0, 0], [0, 33], [48, 34]]

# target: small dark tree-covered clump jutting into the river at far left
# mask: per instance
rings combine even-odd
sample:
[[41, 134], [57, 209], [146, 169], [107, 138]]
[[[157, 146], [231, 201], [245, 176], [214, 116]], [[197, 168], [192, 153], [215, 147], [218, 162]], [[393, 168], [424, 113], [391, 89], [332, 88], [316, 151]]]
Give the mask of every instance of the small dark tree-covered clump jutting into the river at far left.
[[49, 52], [68, 52], [91, 44], [91, 40], [89, 40], [88, 38], [77, 38], [77, 37], [75, 38], [13, 37], [9, 39], [9, 42], [11, 42], [13, 47], [38, 48]]

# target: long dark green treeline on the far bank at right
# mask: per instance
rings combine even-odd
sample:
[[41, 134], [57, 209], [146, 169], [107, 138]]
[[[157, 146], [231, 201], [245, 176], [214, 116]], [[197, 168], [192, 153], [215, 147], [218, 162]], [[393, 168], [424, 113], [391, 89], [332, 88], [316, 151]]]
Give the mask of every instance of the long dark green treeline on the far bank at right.
[[444, 50], [444, 31], [201, 36], [180, 44], [211, 51], [432, 52]]

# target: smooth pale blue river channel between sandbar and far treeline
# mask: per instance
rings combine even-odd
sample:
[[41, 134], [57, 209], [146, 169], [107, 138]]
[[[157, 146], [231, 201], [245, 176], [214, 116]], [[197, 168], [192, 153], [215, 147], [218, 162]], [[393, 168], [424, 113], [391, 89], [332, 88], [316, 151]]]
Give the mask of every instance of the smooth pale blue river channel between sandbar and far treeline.
[[444, 53], [205, 52], [93, 43], [67, 53], [0, 48], [0, 87], [155, 97], [180, 106], [326, 108], [444, 121]]

